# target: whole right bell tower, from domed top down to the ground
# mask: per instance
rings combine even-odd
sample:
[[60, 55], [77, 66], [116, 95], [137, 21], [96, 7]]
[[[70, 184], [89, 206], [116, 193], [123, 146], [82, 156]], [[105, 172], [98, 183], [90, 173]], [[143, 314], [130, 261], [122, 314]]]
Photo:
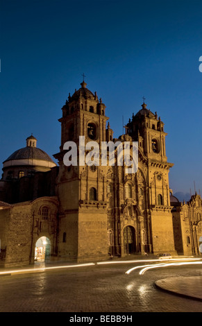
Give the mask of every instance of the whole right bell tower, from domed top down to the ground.
[[[138, 141], [139, 156], [146, 162], [146, 184], [148, 187], [148, 221], [150, 246], [154, 253], [170, 252], [175, 254], [173, 224], [169, 198], [169, 169], [174, 165], [167, 162], [165, 151], [164, 123], [142, 104], [127, 124], [127, 133]], [[141, 164], [141, 162], [139, 162]], [[150, 230], [149, 230], [150, 229]]]

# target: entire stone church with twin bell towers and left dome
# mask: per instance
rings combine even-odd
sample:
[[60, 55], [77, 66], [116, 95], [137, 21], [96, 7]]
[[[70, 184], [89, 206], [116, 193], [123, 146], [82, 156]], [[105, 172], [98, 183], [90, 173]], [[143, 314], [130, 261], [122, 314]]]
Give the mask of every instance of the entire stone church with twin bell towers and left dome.
[[[107, 123], [106, 105], [83, 81], [62, 107], [60, 151], [51, 157], [26, 148], [3, 162], [0, 180], [0, 264], [33, 264], [45, 259], [98, 261], [126, 255], [201, 255], [202, 205], [170, 196], [164, 123], [142, 104], [119, 139]], [[138, 143], [138, 169], [126, 173], [115, 164], [66, 166], [65, 144], [79, 137], [94, 141]], [[132, 151], [132, 149], [131, 149]], [[90, 148], [85, 148], [85, 154]], [[101, 152], [99, 152], [101, 159]], [[197, 202], [197, 203], [196, 203]], [[192, 207], [192, 208], [190, 208]]]

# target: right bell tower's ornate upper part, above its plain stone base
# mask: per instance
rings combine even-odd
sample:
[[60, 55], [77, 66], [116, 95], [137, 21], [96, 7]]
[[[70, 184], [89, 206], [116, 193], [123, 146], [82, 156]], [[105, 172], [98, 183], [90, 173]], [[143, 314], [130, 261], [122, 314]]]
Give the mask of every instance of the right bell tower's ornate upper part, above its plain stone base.
[[167, 162], [165, 151], [164, 123], [142, 104], [142, 110], [127, 124], [128, 135], [138, 141], [139, 149], [149, 164], [149, 184], [151, 205], [170, 205], [169, 169], [174, 164]]

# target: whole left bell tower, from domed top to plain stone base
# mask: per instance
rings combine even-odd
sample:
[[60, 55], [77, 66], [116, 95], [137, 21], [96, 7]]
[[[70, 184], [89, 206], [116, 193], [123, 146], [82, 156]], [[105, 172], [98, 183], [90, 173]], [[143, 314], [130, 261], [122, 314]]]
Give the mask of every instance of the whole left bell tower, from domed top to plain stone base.
[[[112, 139], [110, 126], [106, 128], [106, 106], [87, 89], [83, 80], [62, 107], [60, 153], [54, 155], [60, 165], [57, 193], [60, 198], [58, 255], [76, 261], [106, 259], [107, 199], [106, 166], [87, 164], [65, 166], [64, 144], [74, 141], [79, 153], [79, 137], [84, 136], [85, 146], [94, 141]], [[85, 151], [85, 155], [89, 148]]]

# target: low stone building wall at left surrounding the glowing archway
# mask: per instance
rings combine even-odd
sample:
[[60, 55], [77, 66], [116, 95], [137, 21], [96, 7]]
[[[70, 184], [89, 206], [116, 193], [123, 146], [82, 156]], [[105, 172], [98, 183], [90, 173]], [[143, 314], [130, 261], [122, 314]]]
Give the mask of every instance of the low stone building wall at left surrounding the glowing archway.
[[[0, 203], [0, 207], [3, 207], [3, 203]], [[47, 209], [46, 216], [43, 216], [44, 207]], [[0, 209], [1, 248], [6, 247], [6, 257], [1, 263], [4, 266], [33, 263], [35, 243], [40, 237], [49, 238], [51, 255], [56, 255], [57, 212], [58, 200], [51, 197]]]

